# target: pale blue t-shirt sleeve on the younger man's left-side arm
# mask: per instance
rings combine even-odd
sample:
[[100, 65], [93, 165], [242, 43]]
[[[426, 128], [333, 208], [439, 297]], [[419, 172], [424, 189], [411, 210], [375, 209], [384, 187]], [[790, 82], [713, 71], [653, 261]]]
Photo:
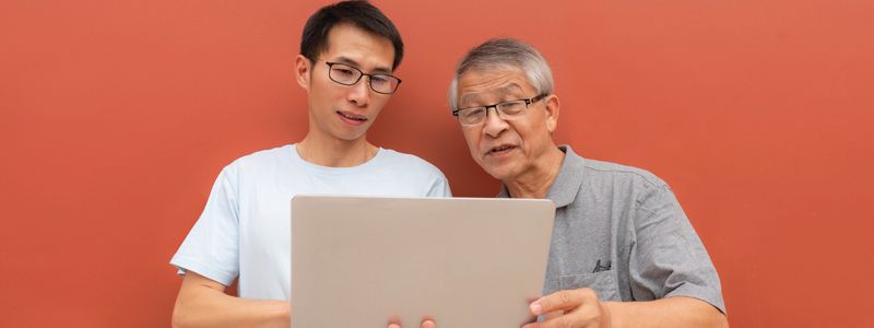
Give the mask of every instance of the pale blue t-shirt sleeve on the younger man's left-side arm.
[[210, 192], [206, 207], [170, 263], [185, 271], [231, 285], [239, 273], [237, 173], [225, 167]]

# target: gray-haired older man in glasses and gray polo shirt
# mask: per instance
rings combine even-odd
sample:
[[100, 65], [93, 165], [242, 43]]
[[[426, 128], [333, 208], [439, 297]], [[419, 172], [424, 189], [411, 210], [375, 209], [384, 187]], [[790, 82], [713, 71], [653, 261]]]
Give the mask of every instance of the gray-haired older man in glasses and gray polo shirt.
[[558, 96], [536, 49], [472, 49], [449, 103], [473, 160], [503, 181], [498, 197], [555, 201], [546, 296], [530, 305], [543, 317], [524, 327], [728, 326], [719, 277], [670, 187], [555, 144]]

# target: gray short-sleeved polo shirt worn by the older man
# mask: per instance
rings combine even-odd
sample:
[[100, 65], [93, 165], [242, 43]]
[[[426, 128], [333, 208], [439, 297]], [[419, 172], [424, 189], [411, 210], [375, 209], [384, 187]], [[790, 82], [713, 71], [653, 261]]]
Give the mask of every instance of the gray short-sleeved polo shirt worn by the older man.
[[[568, 145], [544, 295], [590, 288], [602, 301], [702, 300], [725, 313], [719, 276], [671, 188], [643, 169], [586, 160]], [[498, 197], [509, 197], [503, 186]]]

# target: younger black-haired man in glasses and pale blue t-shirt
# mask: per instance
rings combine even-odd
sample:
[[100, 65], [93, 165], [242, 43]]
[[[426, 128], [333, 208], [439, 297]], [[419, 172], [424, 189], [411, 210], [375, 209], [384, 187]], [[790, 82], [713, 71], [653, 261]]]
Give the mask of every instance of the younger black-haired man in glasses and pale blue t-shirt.
[[[450, 195], [433, 165], [366, 139], [401, 83], [392, 73], [402, 56], [394, 25], [365, 1], [328, 5], [309, 17], [295, 58], [309, 131], [296, 144], [238, 159], [218, 175], [170, 260], [185, 274], [174, 327], [290, 326], [295, 195]], [[236, 279], [239, 297], [225, 293]]]

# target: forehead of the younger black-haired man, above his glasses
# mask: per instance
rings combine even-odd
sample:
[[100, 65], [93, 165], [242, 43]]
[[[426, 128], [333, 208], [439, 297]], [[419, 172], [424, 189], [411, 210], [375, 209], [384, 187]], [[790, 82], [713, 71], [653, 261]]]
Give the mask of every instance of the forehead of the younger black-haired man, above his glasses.
[[321, 57], [327, 61], [349, 63], [366, 71], [391, 72], [394, 46], [386, 37], [341, 23], [328, 32], [328, 47]]

